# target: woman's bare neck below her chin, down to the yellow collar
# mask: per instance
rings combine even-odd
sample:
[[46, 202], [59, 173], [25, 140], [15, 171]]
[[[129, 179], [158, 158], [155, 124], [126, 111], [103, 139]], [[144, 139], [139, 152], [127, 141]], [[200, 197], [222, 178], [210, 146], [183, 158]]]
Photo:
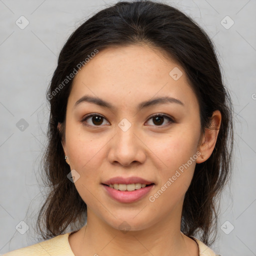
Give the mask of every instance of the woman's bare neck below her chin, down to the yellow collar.
[[87, 209], [87, 224], [73, 234], [72, 242], [70, 237], [69, 243], [75, 255], [197, 256], [197, 244], [180, 232], [181, 219], [173, 215], [177, 216], [169, 214], [141, 230], [122, 231]]

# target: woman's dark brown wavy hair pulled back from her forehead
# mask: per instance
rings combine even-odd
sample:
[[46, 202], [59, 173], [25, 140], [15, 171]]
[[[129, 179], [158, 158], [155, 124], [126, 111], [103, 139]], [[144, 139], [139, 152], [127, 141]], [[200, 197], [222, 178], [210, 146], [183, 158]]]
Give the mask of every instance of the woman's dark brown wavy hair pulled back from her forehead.
[[[181, 231], [197, 235], [207, 245], [216, 233], [219, 194], [230, 177], [233, 145], [232, 105], [224, 88], [214, 46], [207, 34], [178, 9], [150, 0], [117, 2], [84, 23], [68, 38], [58, 57], [57, 67], [47, 90], [50, 104], [48, 145], [44, 152], [43, 173], [49, 187], [37, 228], [44, 239], [83, 226], [86, 204], [67, 174], [61, 137], [64, 136], [67, 99], [73, 78], [65, 80], [78, 63], [110, 46], [145, 43], [164, 52], [185, 70], [200, 107], [201, 129], [210, 126], [214, 110], [221, 112], [221, 125], [211, 156], [195, 166], [191, 184], [185, 193]], [[63, 81], [65, 80], [65, 83]], [[62, 84], [62, 86], [60, 86]], [[57, 129], [58, 122], [62, 130]], [[45, 176], [45, 174], [44, 174]]]

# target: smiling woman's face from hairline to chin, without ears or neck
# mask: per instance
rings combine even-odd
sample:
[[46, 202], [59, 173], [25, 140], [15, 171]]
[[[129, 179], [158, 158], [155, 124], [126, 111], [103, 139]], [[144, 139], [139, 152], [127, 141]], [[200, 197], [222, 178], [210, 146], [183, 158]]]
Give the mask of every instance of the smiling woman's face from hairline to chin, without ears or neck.
[[[94, 103], [80, 100], [84, 96]], [[170, 99], [154, 101], [162, 97]], [[160, 51], [145, 45], [107, 48], [76, 74], [62, 145], [88, 219], [93, 215], [130, 230], [180, 219], [199, 139], [196, 96], [182, 67]], [[135, 191], [104, 185], [114, 177], [124, 178], [122, 184], [147, 183], [128, 180], [138, 177], [153, 185]]]

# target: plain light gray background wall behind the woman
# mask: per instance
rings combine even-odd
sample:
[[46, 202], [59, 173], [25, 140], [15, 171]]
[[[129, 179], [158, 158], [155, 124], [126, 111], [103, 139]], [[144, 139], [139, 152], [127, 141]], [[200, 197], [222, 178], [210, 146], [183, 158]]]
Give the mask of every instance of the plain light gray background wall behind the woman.
[[[57, 55], [79, 24], [114, 2], [0, 0], [1, 254], [38, 242], [34, 221], [44, 200], [38, 168], [49, 115], [45, 90]], [[256, 1], [165, 2], [193, 17], [212, 38], [234, 105], [233, 178], [221, 198], [218, 237], [212, 248], [226, 256], [256, 255]], [[24, 29], [15, 23], [21, 15], [29, 21]], [[227, 15], [234, 21], [231, 27]], [[24, 123], [21, 118], [28, 124], [23, 130], [18, 127]], [[24, 234], [16, 229], [20, 221], [29, 226]]]

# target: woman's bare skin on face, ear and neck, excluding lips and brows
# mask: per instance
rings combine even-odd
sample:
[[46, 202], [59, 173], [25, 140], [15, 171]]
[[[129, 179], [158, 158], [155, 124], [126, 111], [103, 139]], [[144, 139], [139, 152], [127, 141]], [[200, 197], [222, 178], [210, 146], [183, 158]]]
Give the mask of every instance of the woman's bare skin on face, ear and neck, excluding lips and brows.
[[[169, 75], [174, 67], [183, 73], [178, 80]], [[74, 107], [85, 94], [116, 109], [89, 102]], [[167, 95], [184, 105], [165, 103], [136, 110], [141, 101]], [[86, 126], [81, 120], [89, 113], [104, 118], [98, 124], [89, 117]], [[151, 118], [155, 113], [173, 117], [174, 122], [165, 117], [157, 124]], [[131, 124], [125, 132], [118, 126], [123, 118]], [[220, 121], [216, 110], [212, 125], [219, 127]], [[62, 139], [66, 162], [80, 175], [74, 185], [87, 205], [87, 226], [68, 238], [75, 256], [198, 255], [196, 242], [180, 232], [181, 209], [195, 164], [210, 156], [217, 134], [218, 129], [201, 133], [199, 105], [185, 72], [161, 51], [145, 44], [99, 51], [74, 78]], [[203, 158], [197, 157], [158, 198], [149, 201], [197, 151]], [[115, 176], [139, 176], [155, 185], [142, 199], [120, 203], [101, 185]], [[125, 233], [119, 228], [123, 221], [129, 225]]]

